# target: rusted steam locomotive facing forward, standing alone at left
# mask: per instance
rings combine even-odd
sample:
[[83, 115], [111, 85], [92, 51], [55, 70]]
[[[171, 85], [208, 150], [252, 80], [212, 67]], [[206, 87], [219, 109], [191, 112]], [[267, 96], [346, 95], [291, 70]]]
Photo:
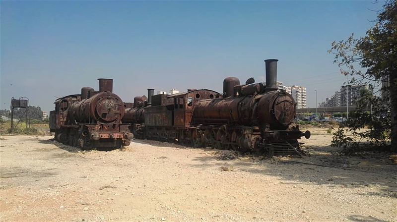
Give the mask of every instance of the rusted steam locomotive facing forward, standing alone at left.
[[81, 94], [55, 101], [50, 132], [57, 141], [83, 149], [120, 148], [132, 140], [130, 124], [122, 123], [124, 104], [114, 94], [113, 79], [98, 79], [99, 91], [81, 88]]

